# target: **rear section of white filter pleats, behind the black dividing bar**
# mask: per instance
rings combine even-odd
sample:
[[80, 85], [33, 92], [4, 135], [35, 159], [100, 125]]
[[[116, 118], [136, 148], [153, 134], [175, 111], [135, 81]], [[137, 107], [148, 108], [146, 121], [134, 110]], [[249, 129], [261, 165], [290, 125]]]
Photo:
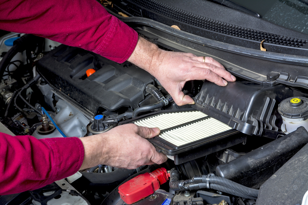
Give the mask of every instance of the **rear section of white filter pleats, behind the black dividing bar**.
[[180, 124], [206, 117], [207, 115], [200, 111], [193, 112], [172, 112], [164, 113], [146, 119], [138, 120], [136, 125], [148, 128], [158, 127], [160, 130], [168, 129]]

